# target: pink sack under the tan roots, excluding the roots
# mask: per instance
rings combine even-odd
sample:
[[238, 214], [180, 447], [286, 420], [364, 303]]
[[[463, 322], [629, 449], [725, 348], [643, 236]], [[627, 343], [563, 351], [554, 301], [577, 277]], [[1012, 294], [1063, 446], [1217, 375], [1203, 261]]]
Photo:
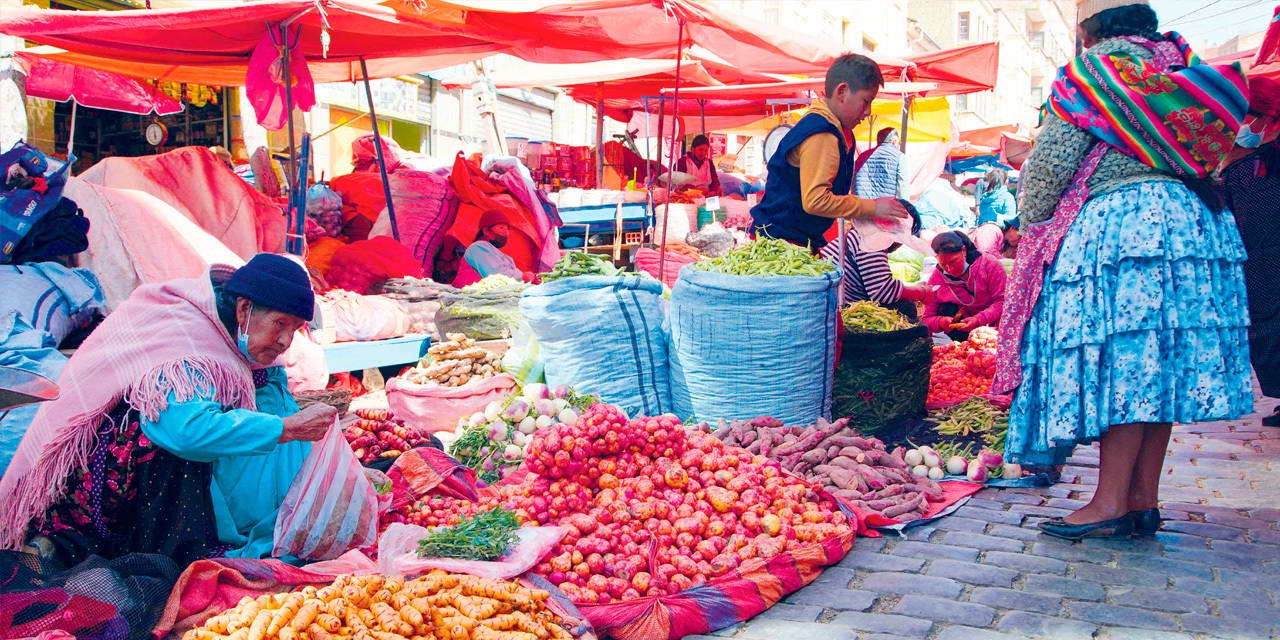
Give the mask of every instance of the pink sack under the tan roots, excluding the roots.
[[458, 420], [471, 416], [493, 401], [515, 390], [516, 379], [511, 374], [463, 384], [462, 387], [431, 387], [402, 378], [387, 380], [387, 403], [396, 417], [404, 424], [434, 434], [453, 431]]

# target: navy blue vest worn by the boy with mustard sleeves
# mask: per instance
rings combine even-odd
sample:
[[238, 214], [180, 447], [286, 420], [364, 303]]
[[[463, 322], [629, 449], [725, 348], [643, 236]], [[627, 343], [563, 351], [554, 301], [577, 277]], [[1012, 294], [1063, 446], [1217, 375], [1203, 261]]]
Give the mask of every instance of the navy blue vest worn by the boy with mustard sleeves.
[[805, 212], [800, 192], [800, 168], [787, 161], [787, 154], [817, 133], [831, 133], [840, 141], [840, 170], [831, 192], [847, 196], [854, 186], [854, 154], [845, 143], [845, 134], [831, 120], [810, 113], [782, 138], [777, 151], [769, 157], [769, 177], [764, 186], [764, 200], [751, 207], [751, 233], [768, 236], [809, 246], [814, 251], [827, 244], [823, 234], [831, 228], [831, 218]]

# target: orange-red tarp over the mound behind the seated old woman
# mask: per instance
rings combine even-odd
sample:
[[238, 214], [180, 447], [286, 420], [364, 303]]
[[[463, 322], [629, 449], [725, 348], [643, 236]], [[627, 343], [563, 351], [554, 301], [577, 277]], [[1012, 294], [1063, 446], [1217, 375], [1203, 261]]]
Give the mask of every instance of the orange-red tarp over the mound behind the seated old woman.
[[221, 241], [241, 259], [284, 250], [284, 212], [205, 147], [145, 157], [108, 157], [86, 182], [150, 193]]

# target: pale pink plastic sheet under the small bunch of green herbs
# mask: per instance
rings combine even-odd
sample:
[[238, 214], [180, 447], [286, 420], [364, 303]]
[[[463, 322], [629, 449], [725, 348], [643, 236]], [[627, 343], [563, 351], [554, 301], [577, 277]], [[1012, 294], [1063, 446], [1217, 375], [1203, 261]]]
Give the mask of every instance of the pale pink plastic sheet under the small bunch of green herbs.
[[433, 568], [470, 573], [472, 576], [504, 580], [516, 577], [538, 564], [554, 548], [568, 527], [538, 526], [516, 531], [520, 541], [495, 561], [465, 561], [454, 558], [419, 558], [417, 541], [431, 535], [431, 530], [417, 525], [392, 522], [378, 539], [378, 571], [387, 576], [416, 576]]

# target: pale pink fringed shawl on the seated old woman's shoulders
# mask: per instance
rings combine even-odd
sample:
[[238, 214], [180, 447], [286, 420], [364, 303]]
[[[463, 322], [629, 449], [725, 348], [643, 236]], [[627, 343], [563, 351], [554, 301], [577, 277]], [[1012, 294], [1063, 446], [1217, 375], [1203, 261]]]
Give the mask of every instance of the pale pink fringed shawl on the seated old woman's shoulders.
[[40, 408], [0, 480], [0, 549], [18, 549], [32, 520], [88, 460], [95, 433], [120, 401], [156, 420], [178, 402], [211, 398], [255, 408], [246, 361], [218, 319], [210, 278], [140, 287], [72, 356], [61, 397]]

